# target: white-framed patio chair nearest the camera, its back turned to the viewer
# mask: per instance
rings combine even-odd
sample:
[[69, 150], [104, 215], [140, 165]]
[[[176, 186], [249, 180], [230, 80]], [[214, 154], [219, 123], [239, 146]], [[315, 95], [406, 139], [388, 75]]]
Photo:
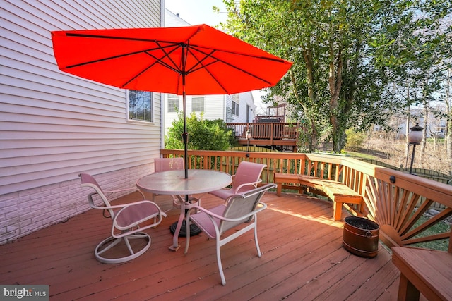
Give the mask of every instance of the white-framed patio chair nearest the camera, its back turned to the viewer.
[[[230, 242], [253, 229], [257, 254], [258, 257], [262, 256], [257, 240], [257, 214], [267, 207], [265, 203], [261, 202], [263, 194], [267, 190], [275, 187], [275, 184], [270, 183], [263, 185], [260, 188], [254, 188], [243, 192], [242, 194], [234, 195], [230, 197], [226, 204], [221, 204], [212, 209], [194, 206], [187, 212], [185, 221], [187, 227], [190, 226], [190, 223], [194, 223], [201, 231], [206, 233], [208, 238], [215, 239], [216, 241], [217, 263], [222, 285], [226, 284], [220, 254], [220, 247], [222, 247], [222, 245], [227, 244], [227, 242]], [[194, 209], [198, 209], [199, 212], [192, 214]], [[243, 226], [243, 223], [245, 223], [246, 226]], [[226, 234], [226, 231], [232, 228], [234, 228], [234, 230], [229, 231]], [[187, 231], [185, 254], [189, 251], [189, 244], [190, 231]]]

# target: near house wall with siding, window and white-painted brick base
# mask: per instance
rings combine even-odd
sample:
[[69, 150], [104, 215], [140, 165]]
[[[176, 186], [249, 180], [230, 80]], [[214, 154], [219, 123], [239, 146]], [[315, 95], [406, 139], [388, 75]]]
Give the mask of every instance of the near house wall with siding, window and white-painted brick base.
[[[93, 174], [105, 188], [130, 188], [153, 171], [162, 94], [61, 72], [50, 32], [160, 27], [164, 6], [164, 0], [0, 0], [0, 245], [88, 210], [78, 173]], [[129, 111], [138, 97], [150, 106], [145, 115]]]

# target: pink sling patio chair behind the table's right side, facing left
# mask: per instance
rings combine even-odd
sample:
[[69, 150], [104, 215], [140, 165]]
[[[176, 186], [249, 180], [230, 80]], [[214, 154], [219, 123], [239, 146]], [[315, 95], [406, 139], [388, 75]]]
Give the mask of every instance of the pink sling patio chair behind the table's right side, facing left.
[[242, 161], [235, 175], [232, 176], [231, 188], [223, 188], [209, 193], [227, 200], [232, 195], [256, 188], [257, 184], [262, 182], [261, 173], [265, 167], [266, 164]]

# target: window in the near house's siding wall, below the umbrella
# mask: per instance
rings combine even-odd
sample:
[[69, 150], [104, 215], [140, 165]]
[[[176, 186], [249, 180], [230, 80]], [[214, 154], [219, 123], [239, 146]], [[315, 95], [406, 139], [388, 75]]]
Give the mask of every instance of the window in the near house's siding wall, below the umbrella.
[[153, 94], [148, 91], [129, 90], [129, 120], [153, 122]]

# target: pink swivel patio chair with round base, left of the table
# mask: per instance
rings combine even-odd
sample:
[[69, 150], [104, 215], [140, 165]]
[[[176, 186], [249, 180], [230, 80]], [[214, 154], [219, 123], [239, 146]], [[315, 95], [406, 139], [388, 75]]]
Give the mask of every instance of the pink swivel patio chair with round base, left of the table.
[[[134, 259], [149, 249], [151, 239], [143, 230], [153, 228], [162, 221], [165, 213], [154, 202], [145, 200], [143, 192], [136, 189], [102, 190], [93, 176], [81, 173], [81, 187], [95, 190], [88, 195], [88, 202], [93, 209], [102, 209], [103, 216], [112, 219], [112, 236], [102, 240], [95, 248], [95, 258], [105, 264], [119, 264]], [[105, 196], [112, 192], [138, 191], [143, 200], [128, 204], [112, 205]], [[102, 199], [103, 205], [96, 205], [93, 196]], [[131, 241], [133, 240], [133, 242]], [[121, 244], [121, 242], [123, 242]], [[125, 247], [124, 247], [125, 244]], [[113, 247], [116, 247], [113, 249]], [[134, 250], [136, 249], [136, 250]], [[108, 252], [109, 251], [109, 252]]]

